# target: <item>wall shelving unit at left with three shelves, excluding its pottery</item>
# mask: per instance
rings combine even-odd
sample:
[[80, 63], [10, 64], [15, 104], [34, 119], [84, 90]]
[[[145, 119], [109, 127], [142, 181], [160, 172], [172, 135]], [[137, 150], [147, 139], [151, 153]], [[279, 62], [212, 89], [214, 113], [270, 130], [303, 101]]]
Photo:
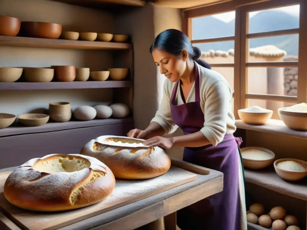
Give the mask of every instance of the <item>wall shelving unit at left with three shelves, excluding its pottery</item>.
[[[112, 6], [113, 9], [120, 9], [120, 7], [144, 6], [146, 3], [142, 0], [43, 1], [30, 1], [25, 5], [22, 5], [24, 3], [8, 1], [7, 3], [10, 6], [4, 4], [7, 9], [0, 9], [0, 15], [17, 17], [21, 21], [58, 23], [62, 25], [62, 32], [77, 31], [116, 34], [115, 28], [112, 28], [115, 26], [114, 15], [111, 11], [106, 10], [109, 9], [107, 6]], [[95, 10], [56, 2], [65, 2], [79, 6], [84, 6], [84, 2], [86, 2], [86, 7], [94, 8]], [[19, 5], [17, 6], [17, 4]], [[39, 6], [37, 7], [44, 11], [44, 13], [39, 12], [33, 17], [33, 6], [30, 6], [31, 4], [38, 4]], [[96, 8], [95, 6], [97, 5], [95, 4], [103, 6], [100, 8], [103, 11], [100, 11], [99, 7]], [[14, 10], [17, 7], [22, 7], [24, 10], [20, 13], [18, 10]], [[63, 17], [54, 16], [57, 11], [60, 12], [61, 10], [63, 11]], [[121, 34], [123, 32], [117, 31], [117, 33]], [[44, 107], [42, 109], [46, 109], [48, 108], [48, 103], [52, 101], [71, 102], [72, 109], [79, 105], [98, 105], [115, 102], [121, 102], [130, 107], [130, 116], [123, 119], [111, 117], [109, 119], [75, 121], [72, 117], [71, 121], [63, 123], [53, 122], [50, 119], [47, 124], [38, 127], [25, 127], [15, 123], [7, 128], [0, 129], [0, 153], [6, 153], [6, 160], [0, 163], [0, 168], [20, 165], [31, 158], [51, 154], [53, 153], [52, 148], [54, 145], [57, 145], [57, 147], [61, 146], [60, 148], [63, 149], [64, 154], [76, 154], [80, 152], [84, 144], [97, 136], [122, 136], [134, 128], [132, 117], [134, 55], [133, 44], [130, 43], [130, 40], [128, 39], [126, 43], [119, 43], [64, 40], [61, 38], [45, 39], [22, 37], [19, 35], [0, 36], [0, 47], [2, 48], [0, 67], [73, 65], [76, 68], [89, 67], [90, 71], [103, 71], [107, 68], [129, 68], [126, 79], [122, 81], [112, 81], [110, 79], [106, 81], [93, 81], [89, 79], [85, 82], [52, 81], [41, 83], [24, 82], [23, 77], [21, 77], [16, 82], [0, 82], [0, 94], [2, 96], [7, 95], [5, 100], [12, 102], [8, 104], [2, 100], [2, 103], [7, 106], [5, 108], [6, 111], [12, 110], [11, 113], [16, 111], [14, 114], [19, 115], [20, 113], [27, 113], [30, 109], [38, 109], [39, 106]], [[7, 57], [5, 52], [8, 54]], [[75, 92], [76, 97], [74, 96]], [[69, 96], [66, 97], [66, 94]], [[42, 99], [40, 99], [41, 95]], [[26, 97], [29, 97], [28, 101], [25, 100]], [[17, 106], [14, 104], [14, 101], [19, 99], [20, 103], [18, 102], [18, 106], [21, 106], [21, 109], [9, 107], [11, 105]], [[35, 102], [38, 105], [35, 105]], [[74, 103], [78, 105], [74, 106]], [[18, 113], [17, 111], [21, 112]], [[0, 113], [3, 112], [3, 109], [0, 108]], [[17, 148], [17, 145], [23, 146], [22, 151], [20, 148]], [[44, 146], [44, 148], [38, 146]], [[24, 154], [25, 152], [26, 154]]]

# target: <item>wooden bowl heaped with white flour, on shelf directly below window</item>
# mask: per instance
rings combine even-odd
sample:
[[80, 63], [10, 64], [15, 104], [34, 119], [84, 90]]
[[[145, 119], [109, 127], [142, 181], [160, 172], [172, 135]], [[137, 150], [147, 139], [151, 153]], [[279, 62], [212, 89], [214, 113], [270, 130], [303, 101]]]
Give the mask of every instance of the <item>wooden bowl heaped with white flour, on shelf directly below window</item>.
[[265, 125], [266, 122], [272, 117], [273, 111], [255, 105], [246, 109], [239, 109], [238, 115], [245, 124]]

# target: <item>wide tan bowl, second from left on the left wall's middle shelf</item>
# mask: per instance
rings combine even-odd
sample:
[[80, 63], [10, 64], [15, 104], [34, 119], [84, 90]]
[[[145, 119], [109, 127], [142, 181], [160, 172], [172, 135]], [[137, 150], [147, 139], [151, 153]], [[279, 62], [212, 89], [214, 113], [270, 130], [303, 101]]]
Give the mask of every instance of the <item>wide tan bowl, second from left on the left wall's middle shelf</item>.
[[27, 82], [51, 82], [54, 76], [54, 69], [25, 67], [24, 74]]

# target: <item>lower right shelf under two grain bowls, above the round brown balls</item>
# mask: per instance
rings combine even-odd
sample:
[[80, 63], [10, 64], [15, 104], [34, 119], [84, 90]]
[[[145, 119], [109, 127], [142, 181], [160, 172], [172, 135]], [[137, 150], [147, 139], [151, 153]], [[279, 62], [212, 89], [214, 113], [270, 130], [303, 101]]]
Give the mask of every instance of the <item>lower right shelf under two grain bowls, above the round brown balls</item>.
[[273, 166], [263, 170], [244, 169], [245, 181], [275, 192], [307, 201], [307, 178], [289, 182], [280, 178]]

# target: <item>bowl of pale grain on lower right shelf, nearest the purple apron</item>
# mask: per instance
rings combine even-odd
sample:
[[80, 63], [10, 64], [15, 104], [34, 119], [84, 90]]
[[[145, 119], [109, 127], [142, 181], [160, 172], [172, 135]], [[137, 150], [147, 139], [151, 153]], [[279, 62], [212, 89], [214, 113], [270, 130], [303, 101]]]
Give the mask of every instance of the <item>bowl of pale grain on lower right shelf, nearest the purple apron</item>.
[[263, 169], [274, 160], [275, 154], [271, 150], [260, 147], [246, 147], [240, 149], [243, 166], [249, 169]]

